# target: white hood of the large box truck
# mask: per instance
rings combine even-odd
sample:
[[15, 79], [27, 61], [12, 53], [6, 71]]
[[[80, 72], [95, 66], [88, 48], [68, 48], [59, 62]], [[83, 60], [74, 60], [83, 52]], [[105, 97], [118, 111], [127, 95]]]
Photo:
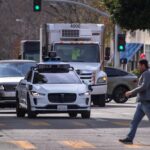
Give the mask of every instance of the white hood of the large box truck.
[[99, 63], [73, 63], [69, 62], [69, 64], [74, 67], [75, 70], [87, 70], [87, 71], [95, 71], [100, 67]]

